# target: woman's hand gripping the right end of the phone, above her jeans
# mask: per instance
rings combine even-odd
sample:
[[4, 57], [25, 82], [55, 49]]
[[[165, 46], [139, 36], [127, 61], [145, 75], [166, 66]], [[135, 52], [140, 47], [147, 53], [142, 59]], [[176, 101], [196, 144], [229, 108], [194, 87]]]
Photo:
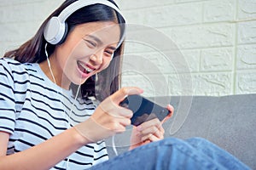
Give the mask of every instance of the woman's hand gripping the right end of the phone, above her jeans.
[[172, 105], [167, 105], [167, 109], [171, 112], [166, 118], [160, 122], [158, 118], [154, 118], [148, 122], [143, 122], [137, 127], [133, 127], [131, 133], [131, 146], [130, 150], [148, 144], [150, 142], [164, 139], [165, 129], [162, 127], [163, 122], [166, 122], [173, 114]]

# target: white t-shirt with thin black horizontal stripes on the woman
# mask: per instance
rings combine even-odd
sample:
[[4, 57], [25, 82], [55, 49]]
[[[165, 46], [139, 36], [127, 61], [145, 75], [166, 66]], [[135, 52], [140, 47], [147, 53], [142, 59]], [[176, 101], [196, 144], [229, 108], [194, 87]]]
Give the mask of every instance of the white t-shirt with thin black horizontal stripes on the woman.
[[[71, 90], [51, 82], [38, 64], [0, 59], [0, 131], [11, 134], [7, 154], [40, 144], [95, 111], [90, 99], [73, 96]], [[68, 158], [71, 169], [85, 169], [108, 160], [108, 153], [99, 141], [84, 145]], [[52, 169], [65, 169], [68, 158]]]

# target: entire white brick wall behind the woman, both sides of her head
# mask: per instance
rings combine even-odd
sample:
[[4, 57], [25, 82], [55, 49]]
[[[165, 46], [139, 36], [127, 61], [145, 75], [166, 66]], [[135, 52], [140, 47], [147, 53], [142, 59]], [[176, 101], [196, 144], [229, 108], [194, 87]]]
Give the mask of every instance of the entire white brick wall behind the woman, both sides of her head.
[[[123, 86], [142, 87], [146, 96], [256, 93], [255, 0], [116, 1], [131, 28], [160, 32], [142, 31], [141, 42], [127, 41]], [[0, 53], [32, 37], [62, 2], [2, 0]]]

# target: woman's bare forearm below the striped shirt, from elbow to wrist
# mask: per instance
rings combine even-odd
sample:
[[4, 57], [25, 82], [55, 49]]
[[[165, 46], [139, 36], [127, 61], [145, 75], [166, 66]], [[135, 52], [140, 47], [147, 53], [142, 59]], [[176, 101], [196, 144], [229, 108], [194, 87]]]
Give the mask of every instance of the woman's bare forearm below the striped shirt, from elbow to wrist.
[[49, 169], [78, 150], [86, 141], [74, 128], [28, 150], [0, 157], [0, 169]]

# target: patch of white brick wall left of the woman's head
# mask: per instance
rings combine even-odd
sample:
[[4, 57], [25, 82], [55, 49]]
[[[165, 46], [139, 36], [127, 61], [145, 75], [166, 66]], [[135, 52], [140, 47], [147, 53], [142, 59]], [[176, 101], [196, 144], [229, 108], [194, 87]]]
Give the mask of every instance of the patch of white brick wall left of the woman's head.
[[31, 38], [44, 19], [63, 1], [1, 0], [0, 53], [17, 48]]

